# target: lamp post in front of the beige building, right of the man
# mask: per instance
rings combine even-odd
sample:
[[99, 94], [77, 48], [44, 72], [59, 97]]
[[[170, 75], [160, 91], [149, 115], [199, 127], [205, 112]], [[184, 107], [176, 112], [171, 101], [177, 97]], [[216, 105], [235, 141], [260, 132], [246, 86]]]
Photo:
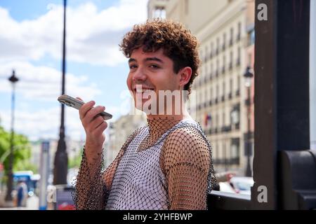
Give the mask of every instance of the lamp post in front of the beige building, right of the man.
[[246, 72], [244, 73], [245, 78], [245, 86], [247, 89], [247, 99], [246, 99], [246, 106], [247, 106], [247, 133], [246, 133], [246, 141], [245, 141], [245, 155], [247, 157], [247, 164], [246, 164], [246, 172], [245, 176], [251, 176], [251, 167], [250, 167], [250, 157], [251, 157], [251, 130], [250, 130], [250, 123], [251, 123], [251, 82], [254, 74], [250, 71], [250, 66], [246, 67]]

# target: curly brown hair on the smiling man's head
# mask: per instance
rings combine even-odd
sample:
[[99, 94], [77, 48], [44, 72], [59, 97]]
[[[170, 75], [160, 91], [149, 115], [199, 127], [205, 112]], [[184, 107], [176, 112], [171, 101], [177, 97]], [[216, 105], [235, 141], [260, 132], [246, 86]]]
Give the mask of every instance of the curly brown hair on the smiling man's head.
[[164, 55], [173, 61], [175, 73], [185, 66], [190, 66], [192, 76], [184, 86], [184, 90], [190, 94], [200, 64], [198, 46], [197, 38], [179, 22], [154, 19], [147, 20], [145, 24], [134, 25], [133, 29], [125, 34], [119, 48], [126, 57], [131, 57], [133, 50], [140, 47], [144, 52], [155, 52], [162, 48]]

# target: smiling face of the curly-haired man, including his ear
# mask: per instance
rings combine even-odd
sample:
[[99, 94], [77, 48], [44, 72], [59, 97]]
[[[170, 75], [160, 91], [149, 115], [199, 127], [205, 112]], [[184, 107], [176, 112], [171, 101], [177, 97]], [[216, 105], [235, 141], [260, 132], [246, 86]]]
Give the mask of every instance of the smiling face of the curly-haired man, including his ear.
[[137, 101], [142, 102], [141, 109], [148, 100], [144, 97], [144, 93], [148, 95], [153, 91], [159, 102], [159, 90], [171, 90], [171, 92], [183, 90], [192, 73], [190, 67], [175, 73], [173, 61], [164, 55], [162, 49], [156, 52], [143, 52], [143, 48], [133, 50], [129, 59], [129, 68], [126, 83], [133, 93], [135, 105]]

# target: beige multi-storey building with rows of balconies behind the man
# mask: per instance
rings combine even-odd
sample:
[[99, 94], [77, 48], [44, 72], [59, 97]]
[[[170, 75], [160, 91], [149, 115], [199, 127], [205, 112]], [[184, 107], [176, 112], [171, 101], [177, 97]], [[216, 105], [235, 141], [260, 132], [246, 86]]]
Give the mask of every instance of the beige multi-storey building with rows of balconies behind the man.
[[[246, 67], [254, 66], [254, 1], [150, 0], [148, 12], [162, 8], [162, 2], [166, 19], [182, 22], [200, 42], [202, 66], [192, 85], [197, 96], [196, 114], [192, 116], [211, 141], [214, 167], [217, 172], [245, 175], [249, 111], [251, 142], [254, 138], [254, 101], [249, 100], [248, 111], [244, 85]], [[159, 13], [149, 13], [148, 17], [155, 15]], [[251, 160], [252, 154], [249, 152]]]

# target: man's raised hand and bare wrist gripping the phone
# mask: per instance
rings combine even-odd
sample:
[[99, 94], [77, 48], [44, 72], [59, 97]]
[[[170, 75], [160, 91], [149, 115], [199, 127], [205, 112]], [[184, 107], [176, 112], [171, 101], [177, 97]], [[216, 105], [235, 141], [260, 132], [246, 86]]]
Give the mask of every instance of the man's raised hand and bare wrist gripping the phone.
[[[77, 99], [83, 101], [79, 97]], [[96, 159], [102, 152], [105, 134], [103, 132], [107, 128], [107, 123], [99, 113], [105, 111], [105, 106], [96, 106], [96, 102], [87, 102], [79, 109], [79, 116], [84, 130], [86, 132], [86, 156], [88, 160]]]

